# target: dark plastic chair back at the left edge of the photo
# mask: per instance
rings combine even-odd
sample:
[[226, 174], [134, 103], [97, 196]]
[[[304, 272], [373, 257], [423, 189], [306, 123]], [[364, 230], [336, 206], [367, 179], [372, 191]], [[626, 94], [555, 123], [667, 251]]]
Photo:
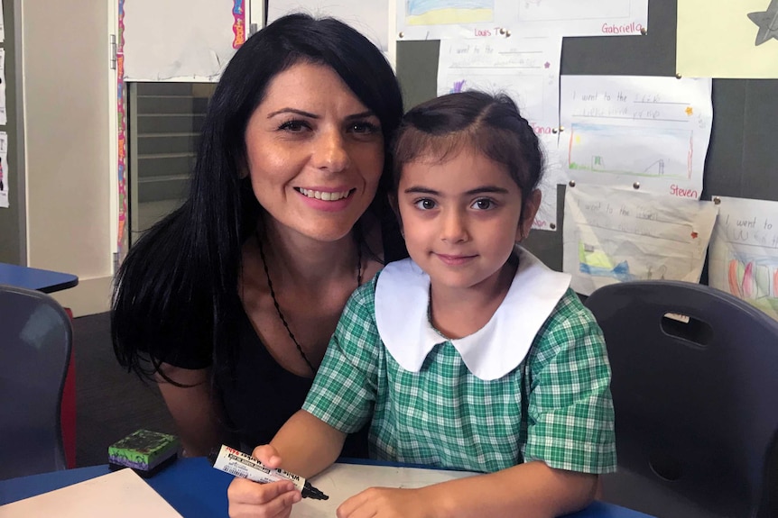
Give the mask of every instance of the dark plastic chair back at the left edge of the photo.
[[50, 295], [0, 285], [0, 479], [66, 468], [60, 405], [72, 338]]

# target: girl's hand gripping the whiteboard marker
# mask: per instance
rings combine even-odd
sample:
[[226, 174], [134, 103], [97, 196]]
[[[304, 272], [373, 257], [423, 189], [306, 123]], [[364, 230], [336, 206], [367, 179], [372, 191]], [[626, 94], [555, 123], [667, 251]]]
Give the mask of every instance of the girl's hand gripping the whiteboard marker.
[[[258, 446], [252, 455], [268, 468], [281, 466], [281, 457], [269, 444]], [[288, 518], [292, 504], [300, 502], [301, 497], [290, 480], [257, 484], [236, 477], [227, 488], [230, 518]]]

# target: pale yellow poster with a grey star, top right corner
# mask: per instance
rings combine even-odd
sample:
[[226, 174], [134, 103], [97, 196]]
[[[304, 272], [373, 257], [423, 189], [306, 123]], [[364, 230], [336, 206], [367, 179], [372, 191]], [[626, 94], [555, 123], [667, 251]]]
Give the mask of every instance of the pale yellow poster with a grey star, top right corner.
[[679, 0], [676, 72], [778, 77], [778, 0]]

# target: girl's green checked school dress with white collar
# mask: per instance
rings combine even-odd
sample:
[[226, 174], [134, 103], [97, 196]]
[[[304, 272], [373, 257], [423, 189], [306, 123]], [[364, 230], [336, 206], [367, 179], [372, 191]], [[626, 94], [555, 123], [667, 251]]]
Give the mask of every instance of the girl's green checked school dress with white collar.
[[517, 251], [505, 301], [458, 340], [429, 321], [430, 278], [411, 259], [390, 263], [349, 299], [303, 409], [342, 432], [372, 419], [373, 459], [614, 471], [602, 332], [569, 275]]

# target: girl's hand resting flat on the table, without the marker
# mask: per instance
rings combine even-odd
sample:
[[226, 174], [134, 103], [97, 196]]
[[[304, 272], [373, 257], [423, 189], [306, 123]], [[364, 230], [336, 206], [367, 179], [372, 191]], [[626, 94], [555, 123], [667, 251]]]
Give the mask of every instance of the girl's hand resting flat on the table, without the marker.
[[431, 518], [435, 502], [421, 489], [370, 487], [338, 507], [338, 518]]

